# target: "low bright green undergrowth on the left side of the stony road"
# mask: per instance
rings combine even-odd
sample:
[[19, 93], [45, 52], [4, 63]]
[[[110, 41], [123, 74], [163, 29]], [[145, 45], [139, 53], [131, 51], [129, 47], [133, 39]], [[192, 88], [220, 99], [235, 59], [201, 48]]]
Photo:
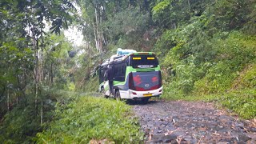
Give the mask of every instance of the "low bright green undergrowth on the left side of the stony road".
[[64, 109], [58, 106], [50, 128], [38, 133], [37, 137], [38, 143], [88, 143], [92, 139], [130, 143], [143, 140], [130, 106], [92, 97], [81, 97]]

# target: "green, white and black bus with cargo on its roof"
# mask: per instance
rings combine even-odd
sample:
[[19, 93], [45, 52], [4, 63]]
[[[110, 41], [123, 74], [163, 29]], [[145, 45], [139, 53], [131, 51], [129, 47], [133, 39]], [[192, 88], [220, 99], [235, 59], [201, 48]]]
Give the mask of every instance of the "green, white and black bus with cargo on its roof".
[[[112, 66], [113, 93], [110, 94], [106, 78]], [[148, 102], [162, 94], [162, 75], [158, 59], [153, 52], [131, 52], [114, 55], [99, 67], [99, 90], [106, 98], [134, 99]]]

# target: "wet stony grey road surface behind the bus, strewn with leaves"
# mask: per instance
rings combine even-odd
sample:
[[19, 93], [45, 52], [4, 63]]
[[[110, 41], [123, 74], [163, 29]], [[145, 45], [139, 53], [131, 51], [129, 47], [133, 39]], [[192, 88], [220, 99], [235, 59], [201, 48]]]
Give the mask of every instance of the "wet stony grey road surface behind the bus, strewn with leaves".
[[253, 121], [238, 120], [206, 102], [131, 104], [146, 143], [256, 143]]

